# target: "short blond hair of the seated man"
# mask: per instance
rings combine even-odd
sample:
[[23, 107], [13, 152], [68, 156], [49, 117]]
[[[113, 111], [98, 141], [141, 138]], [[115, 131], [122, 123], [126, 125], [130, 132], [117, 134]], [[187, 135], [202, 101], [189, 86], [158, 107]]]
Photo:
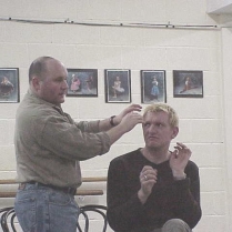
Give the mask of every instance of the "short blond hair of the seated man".
[[179, 127], [179, 118], [173, 108], [165, 103], [153, 103], [149, 104], [143, 112], [143, 118], [148, 112], [167, 112], [169, 115], [169, 123], [171, 127]]

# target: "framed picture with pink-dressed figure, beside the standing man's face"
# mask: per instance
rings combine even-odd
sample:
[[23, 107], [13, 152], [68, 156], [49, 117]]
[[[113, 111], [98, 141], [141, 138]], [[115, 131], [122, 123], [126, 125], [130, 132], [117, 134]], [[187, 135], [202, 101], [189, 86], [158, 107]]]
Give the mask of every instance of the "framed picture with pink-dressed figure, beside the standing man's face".
[[67, 97], [98, 97], [98, 69], [68, 69]]

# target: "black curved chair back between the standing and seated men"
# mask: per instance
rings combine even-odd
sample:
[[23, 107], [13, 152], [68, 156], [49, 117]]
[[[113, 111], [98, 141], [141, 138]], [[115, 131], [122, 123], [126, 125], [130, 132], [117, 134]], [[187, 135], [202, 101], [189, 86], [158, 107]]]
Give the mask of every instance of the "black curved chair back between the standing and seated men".
[[89, 204], [89, 205], [83, 205], [80, 206], [80, 215], [83, 215], [84, 218], [84, 230], [82, 230], [80, 223], [78, 222], [78, 231], [79, 232], [89, 232], [89, 228], [90, 228], [90, 219], [89, 219], [89, 212], [95, 212], [99, 213], [102, 218], [103, 218], [103, 229], [102, 232], [107, 231], [107, 226], [108, 226], [108, 221], [107, 221], [107, 206], [104, 205], [98, 205], [98, 204]]

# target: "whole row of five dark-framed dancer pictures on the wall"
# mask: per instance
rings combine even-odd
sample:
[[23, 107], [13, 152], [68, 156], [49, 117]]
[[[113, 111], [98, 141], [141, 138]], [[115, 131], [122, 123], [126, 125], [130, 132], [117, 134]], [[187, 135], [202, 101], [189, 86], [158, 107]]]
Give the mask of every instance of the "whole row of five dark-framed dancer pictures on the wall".
[[[141, 70], [141, 103], [167, 102], [165, 70]], [[68, 69], [67, 97], [98, 97], [98, 69]], [[131, 70], [104, 70], [105, 102], [131, 102]], [[174, 98], [203, 98], [203, 71], [173, 70]], [[19, 102], [19, 69], [0, 69], [0, 102]]]

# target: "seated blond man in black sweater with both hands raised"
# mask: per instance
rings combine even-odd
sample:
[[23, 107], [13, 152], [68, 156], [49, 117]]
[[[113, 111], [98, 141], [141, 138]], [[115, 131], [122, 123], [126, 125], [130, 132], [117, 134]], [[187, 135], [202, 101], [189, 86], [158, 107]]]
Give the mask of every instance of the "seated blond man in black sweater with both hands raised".
[[183, 143], [170, 150], [179, 132], [175, 111], [147, 107], [145, 147], [111, 161], [108, 221], [117, 232], [191, 232], [201, 219], [199, 168]]

